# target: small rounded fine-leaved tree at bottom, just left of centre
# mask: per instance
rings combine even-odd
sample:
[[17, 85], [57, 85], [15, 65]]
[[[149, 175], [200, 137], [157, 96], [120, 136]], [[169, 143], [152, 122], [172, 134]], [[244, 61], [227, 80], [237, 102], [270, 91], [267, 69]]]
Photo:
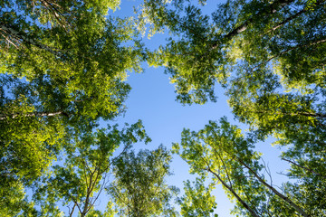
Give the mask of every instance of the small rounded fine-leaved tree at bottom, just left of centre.
[[120, 216], [177, 216], [169, 204], [177, 188], [165, 181], [170, 175], [170, 161], [171, 156], [163, 146], [120, 156], [113, 168], [115, 179], [108, 188]]

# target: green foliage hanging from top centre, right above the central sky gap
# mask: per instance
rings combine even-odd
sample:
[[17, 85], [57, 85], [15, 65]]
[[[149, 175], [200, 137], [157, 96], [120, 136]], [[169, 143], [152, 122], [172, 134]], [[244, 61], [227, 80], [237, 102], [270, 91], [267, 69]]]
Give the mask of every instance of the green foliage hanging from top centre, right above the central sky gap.
[[[178, 39], [169, 38], [167, 46], [160, 46], [158, 51], [149, 53], [149, 65], [167, 67], [171, 83], [176, 84], [177, 100], [182, 103], [202, 104], [207, 98], [215, 101], [215, 82], [224, 83], [227, 71], [215, 62], [222, 53], [217, 50], [210, 52], [210, 41], [215, 38], [215, 30], [209, 23], [209, 17], [201, 14], [200, 9], [194, 5], [186, 6], [186, 15], [180, 16], [177, 12], [183, 6], [178, 2], [183, 1], [177, 1], [175, 11], [164, 11], [162, 7], [168, 5], [157, 3], [164, 1], [149, 2], [155, 2], [147, 5], [149, 15], [156, 14], [156, 10], [163, 11], [155, 19], [151, 18], [157, 21], [154, 26], [163, 28], [161, 25], [165, 24]], [[217, 74], [216, 71], [221, 73]]]

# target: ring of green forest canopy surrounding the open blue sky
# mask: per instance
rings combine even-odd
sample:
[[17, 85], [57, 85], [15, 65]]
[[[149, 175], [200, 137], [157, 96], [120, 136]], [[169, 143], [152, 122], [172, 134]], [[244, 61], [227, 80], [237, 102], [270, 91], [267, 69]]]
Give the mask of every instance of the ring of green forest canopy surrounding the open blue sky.
[[[117, 0], [0, 2], [1, 216], [217, 216], [218, 185], [235, 216], [326, 215], [326, 3], [206, 2], [143, 0], [128, 15]], [[145, 63], [182, 105], [221, 86], [241, 127], [221, 116], [139, 150], [142, 121], [115, 122]], [[290, 168], [281, 187], [256, 149], [267, 138]], [[174, 156], [196, 175], [182, 195]]]

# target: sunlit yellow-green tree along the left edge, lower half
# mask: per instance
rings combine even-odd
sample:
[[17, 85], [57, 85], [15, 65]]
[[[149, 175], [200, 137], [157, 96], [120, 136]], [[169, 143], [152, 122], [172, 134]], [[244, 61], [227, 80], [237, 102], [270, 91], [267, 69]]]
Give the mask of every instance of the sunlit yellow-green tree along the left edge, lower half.
[[[3, 76], [1, 81], [0, 110], [23, 114], [0, 120], [0, 209], [1, 215], [14, 216], [26, 206], [25, 186], [31, 186], [56, 159], [58, 151], [69, 134], [59, 117], [31, 117], [34, 114], [26, 96], [19, 96], [25, 86], [19, 80]], [[5, 94], [5, 86], [14, 82], [13, 98]]]

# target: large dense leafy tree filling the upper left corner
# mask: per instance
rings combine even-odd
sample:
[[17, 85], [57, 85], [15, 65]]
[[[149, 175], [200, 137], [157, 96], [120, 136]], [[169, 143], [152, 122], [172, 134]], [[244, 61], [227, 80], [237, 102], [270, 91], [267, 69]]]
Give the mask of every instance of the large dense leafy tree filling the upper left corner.
[[[142, 49], [130, 20], [106, 18], [118, 5], [118, 1], [3, 3], [1, 73], [24, 78], [37, 104], [34, 113], [24, 116], [67, 116], [72, 123], [83, 123], [123, 111], [130, 89], [124, 82], [126, 73], [140, 71]], [[2, 111], [0, 120], [19, 115]]]

